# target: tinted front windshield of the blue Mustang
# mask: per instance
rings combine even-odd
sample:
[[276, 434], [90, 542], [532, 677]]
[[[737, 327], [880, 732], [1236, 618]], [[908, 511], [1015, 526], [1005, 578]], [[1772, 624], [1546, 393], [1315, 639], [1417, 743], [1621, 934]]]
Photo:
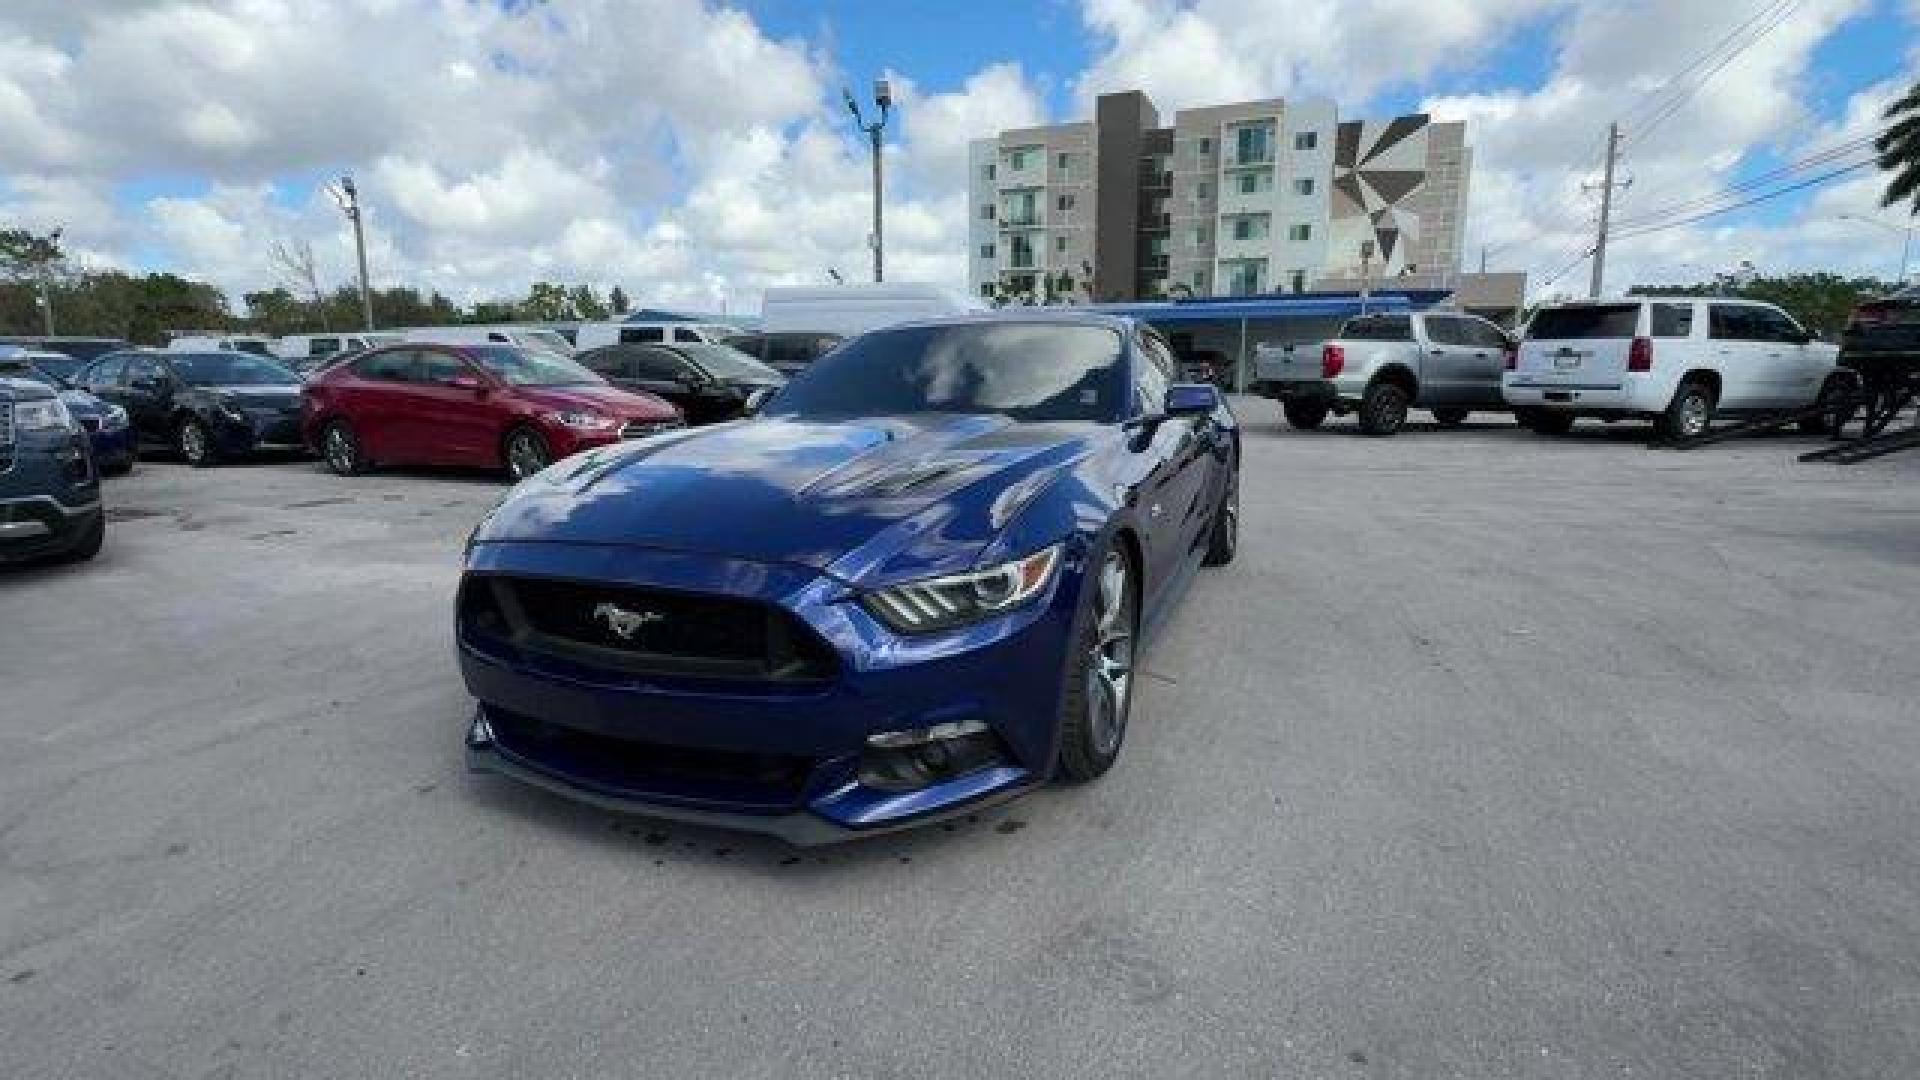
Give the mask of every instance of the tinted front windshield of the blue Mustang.
[[1073, 323], [964, 323], [862, 334], [818, 359], [768, 415], [1002, 413], [1112, 421], [1125, 400], [1119, 334]]

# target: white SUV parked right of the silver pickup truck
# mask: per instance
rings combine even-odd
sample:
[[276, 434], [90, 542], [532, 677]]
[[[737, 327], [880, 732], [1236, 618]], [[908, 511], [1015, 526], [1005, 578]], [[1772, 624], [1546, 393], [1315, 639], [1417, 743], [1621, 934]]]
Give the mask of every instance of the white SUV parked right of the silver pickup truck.
[[[1574, 417], [1651, 419], [1663, 438], [1705, 434], [1718, 413], [1791, 409], [1837, 396], [1839, 348], [1772, 304], [1634, 296], [1542, 307], [1501, 392], [1542, 434]], [[1820, 430], [1820, 421], [1805, 421]]]

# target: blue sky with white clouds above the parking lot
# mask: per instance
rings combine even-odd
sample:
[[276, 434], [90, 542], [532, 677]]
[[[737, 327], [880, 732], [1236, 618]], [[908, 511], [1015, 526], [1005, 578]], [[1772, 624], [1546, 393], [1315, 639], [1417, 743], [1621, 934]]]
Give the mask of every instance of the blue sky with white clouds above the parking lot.
[[[1743, 25], [1772, 29], [1682, 96]], [[900, 100], [889, 279], [964, 282], [968, 138], [1144, 88], [1164, 115], [1317, 94], [1465, 119], [1473, 259], [1576, 286], [1609, 119], [1628, 227], [1770, 190], [1743, 184], [1870, 135], [1920, 77], [1920, 0], [4, 0], [0, 221], [232, 294], [273, 284], [273, 240], [309, 238], [344, 282], [321, 183], [351, 171], [376, 284], [618, 282], [751, 311], [768, 284], [866, 273], [839, 90], [879, 71]], [[1622, 238], [1609, 281], [1743, 259], [1891, 277], [1901, 238], [1843, 217], [1901, 219], [1878, 190], [1860, 171]]]

